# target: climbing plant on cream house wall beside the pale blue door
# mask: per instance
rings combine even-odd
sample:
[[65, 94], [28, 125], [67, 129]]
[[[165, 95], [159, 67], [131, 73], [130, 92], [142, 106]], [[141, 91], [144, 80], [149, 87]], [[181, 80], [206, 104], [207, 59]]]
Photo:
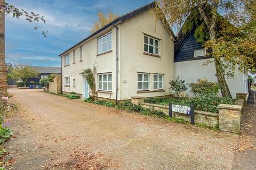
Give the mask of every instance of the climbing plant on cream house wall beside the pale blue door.
[[91, 89], [91, 92], [92, 92], [92, 96], [94, 97], [96, 95], [96, 84], [95, 84], [95, 70], [96, 70], [96, 67], [93, 66], [92, 69], [85, 69], [82, 74], [85, 75], [85, 79], [87, 80], [89, 86], [90, 86], [90, 89]]

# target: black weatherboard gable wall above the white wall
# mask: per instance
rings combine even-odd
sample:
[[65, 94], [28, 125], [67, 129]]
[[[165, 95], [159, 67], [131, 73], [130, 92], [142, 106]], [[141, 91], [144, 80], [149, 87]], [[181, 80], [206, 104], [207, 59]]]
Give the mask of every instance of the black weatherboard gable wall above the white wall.
[[182, 62], [189, 60], [198, 60], [206, 58], [194, 57], [194, 50], [202, 49], [202, 43], [197, 43], [194, 37], [195, 29], [188, 32], [186, 36], [183, 36], [176, 46], [174, 53], [174, 62]]

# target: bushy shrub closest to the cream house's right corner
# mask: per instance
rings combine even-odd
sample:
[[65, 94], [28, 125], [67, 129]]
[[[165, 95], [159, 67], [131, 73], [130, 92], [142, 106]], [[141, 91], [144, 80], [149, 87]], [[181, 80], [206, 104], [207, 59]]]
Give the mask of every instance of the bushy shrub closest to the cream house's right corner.
[[175, 78], [175, 80], [171, 80], [169, 84], [171, 85], [171, 87], [169, 88], [170, 94], [175, 94], [178, 97], [180, 97], [181, 92], [188, 89], [187, 85], [185, 84], [185, 80], [180, 78], [179, 75], [177, 78]]

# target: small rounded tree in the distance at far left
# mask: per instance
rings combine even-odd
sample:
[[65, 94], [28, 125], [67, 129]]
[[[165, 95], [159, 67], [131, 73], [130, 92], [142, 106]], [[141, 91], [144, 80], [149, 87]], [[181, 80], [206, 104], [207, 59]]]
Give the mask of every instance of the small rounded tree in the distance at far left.
[[22, 80], [23, 84], [27, 83], [29, 78], [36, 78], [39, 75], [39, 72], [35, 67], [28, 65], [16, 65], [14, 66], [13, 71], [11, 72], [12, 77], [16, 80]]

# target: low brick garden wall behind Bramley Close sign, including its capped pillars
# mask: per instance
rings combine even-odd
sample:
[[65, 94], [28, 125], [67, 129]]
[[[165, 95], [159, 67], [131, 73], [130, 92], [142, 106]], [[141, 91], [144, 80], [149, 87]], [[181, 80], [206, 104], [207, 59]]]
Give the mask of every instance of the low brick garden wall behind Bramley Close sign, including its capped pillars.
[[[141, 105], [151, 110], [162, 111], [166, 115], [169, 115], [169, 106], [144, 103], [144, 98], [141, 96], [134, 96], [131, 98], [133, 104]], [[195, 111], [195, 123], [204, 123], [212, 128], [219, 126], [222, 131], [239, 133], [241, 112], [243, 105], [245, 104], [244, 100], [244, 98], [238, 98], [235, 105], [218, 105], [219, 113]], [[172, 114], [174, 118], [183, 118], [190, 122], [189, 115], [176, 112], [173, 112]]]

